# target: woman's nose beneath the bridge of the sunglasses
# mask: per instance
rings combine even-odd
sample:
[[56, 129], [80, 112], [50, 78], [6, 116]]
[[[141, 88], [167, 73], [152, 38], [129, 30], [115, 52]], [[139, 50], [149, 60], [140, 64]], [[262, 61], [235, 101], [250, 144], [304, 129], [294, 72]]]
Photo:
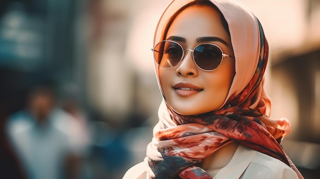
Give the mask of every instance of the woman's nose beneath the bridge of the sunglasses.
[[176, 74], [178, 76], [197, 76], [199, 68], [194, 63], [192, 58], [192, 51], [187, 49], [182, 61], [178, 64]]

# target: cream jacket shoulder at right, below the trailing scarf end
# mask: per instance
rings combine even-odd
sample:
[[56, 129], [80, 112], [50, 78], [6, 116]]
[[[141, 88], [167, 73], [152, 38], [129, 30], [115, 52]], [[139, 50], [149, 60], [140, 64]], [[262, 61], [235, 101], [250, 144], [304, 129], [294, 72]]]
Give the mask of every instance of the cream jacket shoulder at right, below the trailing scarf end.
[[[259, 172], [257, 172], [259, 171]], [[294, 179], [298, 178], [295, 171], [280, 160], [257, 152], [241, 178], [275, 178]]]

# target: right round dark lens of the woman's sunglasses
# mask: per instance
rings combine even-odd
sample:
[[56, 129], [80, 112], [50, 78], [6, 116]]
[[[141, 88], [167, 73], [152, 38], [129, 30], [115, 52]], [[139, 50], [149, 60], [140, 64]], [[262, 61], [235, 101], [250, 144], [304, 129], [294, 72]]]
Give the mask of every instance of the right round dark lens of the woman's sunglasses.
[[214, 70], [218, 68], [222, 60], [222, 51], [212, 44], [202, 44], [194, 49], [194, 59], [196, 64], [204, 70]]

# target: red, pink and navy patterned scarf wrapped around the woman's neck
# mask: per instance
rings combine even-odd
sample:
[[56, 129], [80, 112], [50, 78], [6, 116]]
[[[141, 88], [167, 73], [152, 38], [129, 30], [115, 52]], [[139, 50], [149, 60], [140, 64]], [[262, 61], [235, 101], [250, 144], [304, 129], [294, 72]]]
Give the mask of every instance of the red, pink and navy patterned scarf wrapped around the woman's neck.
[[221, 109], [184, 116], [163, 101], [147, 147], [149, 178], [212, 178], [198, 164], [233, 141], [279, 159], [303, 178], [280, 145], [290, 132], [288, 120], [268, 117], [270, 101], [263, 89], [268, 44], [259, 21], [258, 27], [261, 45], [255, 72], [244, 89], [229, 96]]

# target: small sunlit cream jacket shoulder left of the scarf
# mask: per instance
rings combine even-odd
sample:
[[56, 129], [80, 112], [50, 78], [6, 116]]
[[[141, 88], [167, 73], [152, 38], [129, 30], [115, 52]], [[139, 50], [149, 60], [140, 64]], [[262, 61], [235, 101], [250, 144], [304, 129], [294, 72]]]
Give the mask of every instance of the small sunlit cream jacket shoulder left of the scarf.
[[146, 163], [141, 162], [139, 164], [134, 165], [124, 174], [122, 179], [146, 179]]

